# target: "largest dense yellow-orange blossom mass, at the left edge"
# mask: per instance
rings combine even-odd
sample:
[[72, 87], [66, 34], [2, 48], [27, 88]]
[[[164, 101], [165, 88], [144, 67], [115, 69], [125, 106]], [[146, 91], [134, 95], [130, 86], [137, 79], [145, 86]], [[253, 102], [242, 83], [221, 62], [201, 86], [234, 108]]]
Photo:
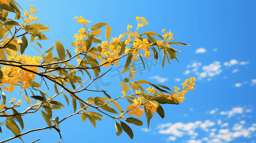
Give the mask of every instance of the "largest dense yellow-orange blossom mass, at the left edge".
[[[30, 57], [28, 55], [19, 55], [17, 51], [13, 50], [6, 50], [8, 53], [8, 61], [16, 61], [23, 64], [32, 64], [32, 65], [39, 65], [40, 60], [42, 60], [42, 57]], [[12, 64], [20, 65], [20, 63], [13, 62]], [[38, 72], [38, 69], [33, 66], [24, 66], [24, 68]], [[8, 92], [12, 92], [14, 90], [14, 83], [21, 83], [22, 89], [27, 89], [29, 86], [29, 79], [34, 79], [35, 74], [32, 72], [24, 71], [18, 67], [14, 66], [6, 66], [3, 65], [3, 69], [1, 69], [3, 72], [3, 78], [1, 79], [0, 85], [4, 87]], [[10, 87], [5, 86], [4, 84], [10, 84]]]

